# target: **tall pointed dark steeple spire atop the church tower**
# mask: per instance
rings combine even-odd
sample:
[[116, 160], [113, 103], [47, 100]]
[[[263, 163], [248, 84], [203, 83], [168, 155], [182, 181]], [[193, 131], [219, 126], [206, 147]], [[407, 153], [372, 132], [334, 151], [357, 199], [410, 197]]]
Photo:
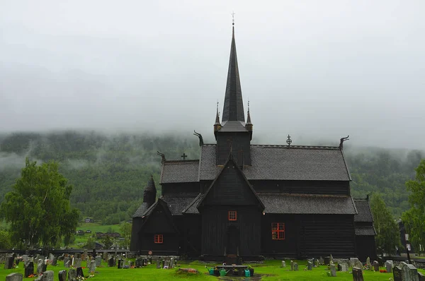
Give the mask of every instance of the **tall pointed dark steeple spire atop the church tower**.
[[240, 121], [245, 125], [241, 81], [239, 80], [239, 68], [237, 66], [236, 43], [234, 42], [234, 26], [232, 27], [232, 46], [230, 47], [229, 71], [227, 72], [225, 105], [222, 115], [222, 122], [224, 123], [226, 121]]

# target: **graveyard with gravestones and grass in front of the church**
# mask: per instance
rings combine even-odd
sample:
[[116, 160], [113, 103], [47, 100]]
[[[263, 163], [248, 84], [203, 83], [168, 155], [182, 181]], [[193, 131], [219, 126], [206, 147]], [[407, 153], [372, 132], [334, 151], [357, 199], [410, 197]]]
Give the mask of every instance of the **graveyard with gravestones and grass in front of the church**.
[[[6, 281], [19, 281], [19, 280], [79, 280], [79, 279], [68, 279], [69, 273], [72, 273], [72, 278], [77, 278], [79, 274], [84, 275], [84, 278], [93, 279], [93, 280], [401, 280], [401, 281], [421, 281], [419, 279], [419, 273], [424, 273], [425, 270], [416, 270], [413, 265], [404, 265], [399, 266], [401, 270], [400, 273], [387, 273], [384, 270], [388, 268], [386, 266], [371, 265], [370, 268], [367, 266], [363, 268], [363, 273], [360, 273], [363, 276], [357, 277], [356, 273], [353, 274], [352, 267], [348, 267], [344, 261], [339, 263], [331, 263], [331, 265], [320, 265], [319, 260], [314, 262], [310, 261], [280, 261], [280, 260], [266, 260], [261, 263], [244, 263], [244, 265], [249, 265], [248, 268], [254, 270], [254, 275], [251, 277], [245, 276], [235, 276], [232, 271], [232, 265], [227, 265], [227, 275], [226, 276], [215, 276], [210, 275], [210, 269], [214, 269], [217, 263], [205, 263], [201, 261], [164, 261], [161, 260], [157, 263], [152, 259], [150, 263], [149, 258], [137, 259], [129, 258], [127, 260], [116, 260], [109, 259], [105, 261], [101, 259], [100, 256], [96, 261], [81, 261], [81, 258], [74, 258], [74, 265], [69, 265], [71, 262], [69, 258], [64, 258], [64, 260], [57, 260], [56, 265], [47, 264], [44, 265], [45, 268], [40, 267], [35, 264], [33, 272], [35, 275], [39, 270], [45, 270], [44, 276], [38, 277], [21, 277], [20, 275], [25, 275], [26, 270], [23, 265], [23, 262], [18, 263], [16, 268], [4, 269], [4, 264], [1, 264], [0, 269], [0, 280]], [[159, 261], [159, 260], [157, 260]], [[67, 264], [68, 263], [68, 264]], [[173, 268], [167, 268], [169, 265], [173, 265]], [[177, 265], [175, 265], [177, 263]], [[309, 265], [310, 263], [310, 265]], [[350, 262], [348, 262], [350, 263]], [[353, 265], [358, 265], [358, 261], [351, 262]], [[94, 266], [94, 265], [98, 266]], [[112, 265], [112, 266], [110, 266]], [[135, 265], [140, 266], [138, 268]], [[284, 265], [284, 266], [283, 266]], [[401, 264], [402, 265], [402, 264]], [[360, 266], [360, 265], [359, 265]], [[375, 268], [375, 266], [377, 266]], [[397, 270], [397, 267], [391, 263], [392, 271]], [[165, 268], [164, 268], [165, 267]], [[220, 265], [218, 265], [220, 268]], [[412, 270], [414, 268], [414, 270]], [[182, 269], [190, 269], [188, 272]], [[360, 268], [357, 268], [357, 271], [362, 271]], [[91, 270], [94, 270], [93, 273], [90, 273]], [[197, 270], [197, 273], [195, 272]], [[380, 272], [382, 271], [382, 272]], [[406, 271], [407, 273], [404, 273]], [[195, 272], [195, 273], [194, 273]], [[13, 273], [18, 273], [16, 276], [11, 277]], [[412, 274], [410, 274], [412, 273]], [[60, 279], [59, 275], [62, 275]], [[399, 274], [399, 275], [398, 275]], [[410, 275], [409, 275], [410, 274]], [[414, 274], [414, 275], [413, 275]], [[7, 277], [7, 276], [10, 277]], [[405, 276], [406, 275], [406, 276]], [[397, 279], [399, 276], [399, 279]], [[417, 279], [415, 279], [415, 276]], [[14, 279], [13, 279], [14, 278]], [[80, 279], [81, 280], [81, 279]]]

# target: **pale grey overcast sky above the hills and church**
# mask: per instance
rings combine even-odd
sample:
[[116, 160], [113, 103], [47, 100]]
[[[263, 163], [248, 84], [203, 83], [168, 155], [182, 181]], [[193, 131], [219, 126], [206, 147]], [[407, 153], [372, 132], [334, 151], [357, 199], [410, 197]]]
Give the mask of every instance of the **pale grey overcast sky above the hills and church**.
[[0, 0], [0, 131], [212, 139], [232, 11], [254, 139], [425, 149], [424, 0]]

